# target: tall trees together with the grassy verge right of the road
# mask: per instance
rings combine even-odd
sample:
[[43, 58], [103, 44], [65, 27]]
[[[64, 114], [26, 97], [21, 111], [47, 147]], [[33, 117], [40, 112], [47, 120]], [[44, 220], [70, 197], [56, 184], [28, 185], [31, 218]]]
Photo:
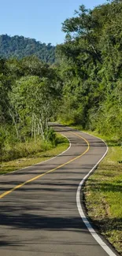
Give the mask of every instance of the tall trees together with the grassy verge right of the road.
[[[88, 215], [122, 252], [122, 2], [88, 10], [79, 6], [65, 20], [65, 43], [57, 46], [64, 82], [58, 120], [97, 131], [109, 154], [85, 187]], [[94, 133], [95, 134], [95, 133]], [[109, 137], [109, 139], [107, 139]]]

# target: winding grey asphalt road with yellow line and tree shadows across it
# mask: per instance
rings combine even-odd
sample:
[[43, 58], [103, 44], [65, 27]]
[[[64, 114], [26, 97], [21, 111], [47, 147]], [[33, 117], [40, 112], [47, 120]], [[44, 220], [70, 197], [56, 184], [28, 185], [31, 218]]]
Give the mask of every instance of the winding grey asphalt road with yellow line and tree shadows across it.
[[[0, 256], [107, 256], [79, 216], [80, 180], [105, 154], [101, 139], [55, 125], [71, 147], [0, 176]], [[84, 139], [83, 139], [84, 138]], [[82, 202], [81, 192], [81, 205]], [[117, 255], [111, 248], [111, 254]]]

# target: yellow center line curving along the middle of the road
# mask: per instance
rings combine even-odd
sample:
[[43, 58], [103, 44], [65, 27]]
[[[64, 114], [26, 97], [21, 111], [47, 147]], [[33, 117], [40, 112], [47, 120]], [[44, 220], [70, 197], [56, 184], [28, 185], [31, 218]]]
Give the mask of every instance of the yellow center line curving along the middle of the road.
[[84, 139], [82, 136], [76, 134], [75, 132], [70, 132], [70, 133], [72, 133], [72, 134], [76, 135], [77, 137], [83, 139], [83, 140], [87, 143], [87, 150], [85, 150], [82, 154], [80, 154], [80, 155], [77, 156], [76, 158], [72, 158], [71, 160], [67, 161], [65, 164], [58, 165], [56, 168], [51, 169], [50, 171], [47, 171], [46, 173], [40, 174], [39, 176], [35, 176], [35, 177], [32, 178], [31, 180], [27, 180], [27, 181], [25, 181], [24, 183], [19, 184], [19, 185], [17, 185], [16, 187], [13, 187], [13, 188], [10, 189], [9, 191], [6, 191], [6, 192], [4, 192], [2, 195], [0, 195], [0, 198], [3, 198], [4, 196], [9, 195], [11, 192], [17, 190], [17, 188], [23, 187], [25, 184], [28, 184], [28, 183], [30, 183], [31, 181], [37, 180], [37, 179], [39, 179], [40, 177], [43, 177], [43, 176], [45, 176], [45, 175], [48, 174], [48, 173], [52, 173], [52, 172], [54, 172], [55, 170], [60, 169], [61, 167], [65, 166], [65, 165], [68, 165], [68, 164], [71, 163], [72, 161], [75, 161], [76, 159], [81, 158], [81, 157], [83, 156], [83, 154], [86, 154], [87, 151], [90, 149], [90, 144], [88, 143], [87, 139]]

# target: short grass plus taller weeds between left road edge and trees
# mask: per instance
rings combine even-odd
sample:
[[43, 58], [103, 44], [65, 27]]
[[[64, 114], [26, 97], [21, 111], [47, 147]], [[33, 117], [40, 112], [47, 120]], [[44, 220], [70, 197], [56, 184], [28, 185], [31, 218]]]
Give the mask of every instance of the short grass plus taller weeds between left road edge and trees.
[[59, 134], [56, 135], [55, 144], [43, 142], [42, 140], [36, 144], [35, 142], [19, 143], [13, 148], [13, 152], [9, 152], [9, 158], [1, 161], [0, 174], [10, 173], [54, 158], [57, 154], [61, 154], [66, 150], [68, 144], [68, 139]]

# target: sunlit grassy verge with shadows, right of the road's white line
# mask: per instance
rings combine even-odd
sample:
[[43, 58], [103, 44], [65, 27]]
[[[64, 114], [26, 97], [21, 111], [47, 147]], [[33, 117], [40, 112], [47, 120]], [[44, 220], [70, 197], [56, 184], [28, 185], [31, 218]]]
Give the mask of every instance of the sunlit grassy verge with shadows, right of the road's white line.
[[[69, 126], [82, 130], [79, 125]], [[122, 255], [122, 146], [116, 139], [84, 132], [104, 139], [109, 147], [108, 154], [83, 188], [87, 214]]]

